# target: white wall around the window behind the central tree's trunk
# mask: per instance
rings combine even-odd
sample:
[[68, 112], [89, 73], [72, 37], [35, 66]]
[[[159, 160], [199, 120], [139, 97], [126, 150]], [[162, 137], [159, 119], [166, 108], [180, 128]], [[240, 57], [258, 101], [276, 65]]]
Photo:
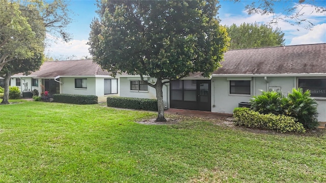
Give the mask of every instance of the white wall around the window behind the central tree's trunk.
[[[144, 78], [149, 81], [156, 82], [155, 78]], [[155, 88], [148, 86], [147, 91], [135, 91], [130, 90], [130, 81], [132, 80], [141, 80], [140, 77], [120, 77], [119, 78], [119, 96], [120, 97], [132, 97], [132, 98], [143, 98], [143, 99], [156, 99]], [[169, 84], [166, 84], [162, 88], [163, 92], [163, 102], [164, 106], [170, 107], [170, 87]]]

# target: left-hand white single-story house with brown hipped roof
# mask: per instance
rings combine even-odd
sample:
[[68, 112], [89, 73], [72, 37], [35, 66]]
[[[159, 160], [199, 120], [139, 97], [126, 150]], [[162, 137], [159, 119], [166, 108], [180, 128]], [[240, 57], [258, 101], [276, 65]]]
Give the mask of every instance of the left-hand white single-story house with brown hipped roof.
[[28, 76], [15, 74], [11, 85], [22, 92], [37, 89], [53, 94], [96, 95], [99, 102], [107, 96], [118, 95], [118, 79], [93, 63], [92, 59], [44, 62], [41, 68]]

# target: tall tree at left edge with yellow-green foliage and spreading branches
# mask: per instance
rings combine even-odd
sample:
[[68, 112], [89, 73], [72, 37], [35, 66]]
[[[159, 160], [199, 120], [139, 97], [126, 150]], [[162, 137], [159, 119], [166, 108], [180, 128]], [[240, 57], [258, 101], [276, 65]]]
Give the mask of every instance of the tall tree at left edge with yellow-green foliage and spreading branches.
[[5, 77], [2, 104], [8, 104], [11, 74], [29, 74], [40, 68], [46, 32], [69, 41], [70, 35], [65, 27], [70, 18], [67, 4], [62, 0], [50, 4], [39, 0], [0, 2], [0, 75]]

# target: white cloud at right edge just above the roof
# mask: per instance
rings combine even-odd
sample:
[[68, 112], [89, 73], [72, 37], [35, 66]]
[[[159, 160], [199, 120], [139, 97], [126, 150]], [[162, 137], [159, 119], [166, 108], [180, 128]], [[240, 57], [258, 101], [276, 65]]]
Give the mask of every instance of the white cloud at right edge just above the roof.
[[290, 45], [314, 43], [326, 43], [326, 23], [314, 26], [307, 34], [292, 38]]

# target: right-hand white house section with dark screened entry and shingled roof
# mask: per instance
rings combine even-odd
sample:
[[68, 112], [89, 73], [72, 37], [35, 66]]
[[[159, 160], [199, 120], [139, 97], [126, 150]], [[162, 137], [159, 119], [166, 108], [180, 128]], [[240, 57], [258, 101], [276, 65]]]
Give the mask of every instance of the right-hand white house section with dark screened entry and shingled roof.
[[[235, 49], [225, 53], [222, 68], [210, 78], [199, 73], [163, 87], [166, 108], [232, 113], [260, 90], [292, 88], [311, 90], [318, 102], [319, 121], [326, 121], [326, 43]], [[140, 76], [120, 75], [121, 97], [155, 99], [155, 89], [142, 84]], [[145, 77], [147, 81], [155, 78]]]

